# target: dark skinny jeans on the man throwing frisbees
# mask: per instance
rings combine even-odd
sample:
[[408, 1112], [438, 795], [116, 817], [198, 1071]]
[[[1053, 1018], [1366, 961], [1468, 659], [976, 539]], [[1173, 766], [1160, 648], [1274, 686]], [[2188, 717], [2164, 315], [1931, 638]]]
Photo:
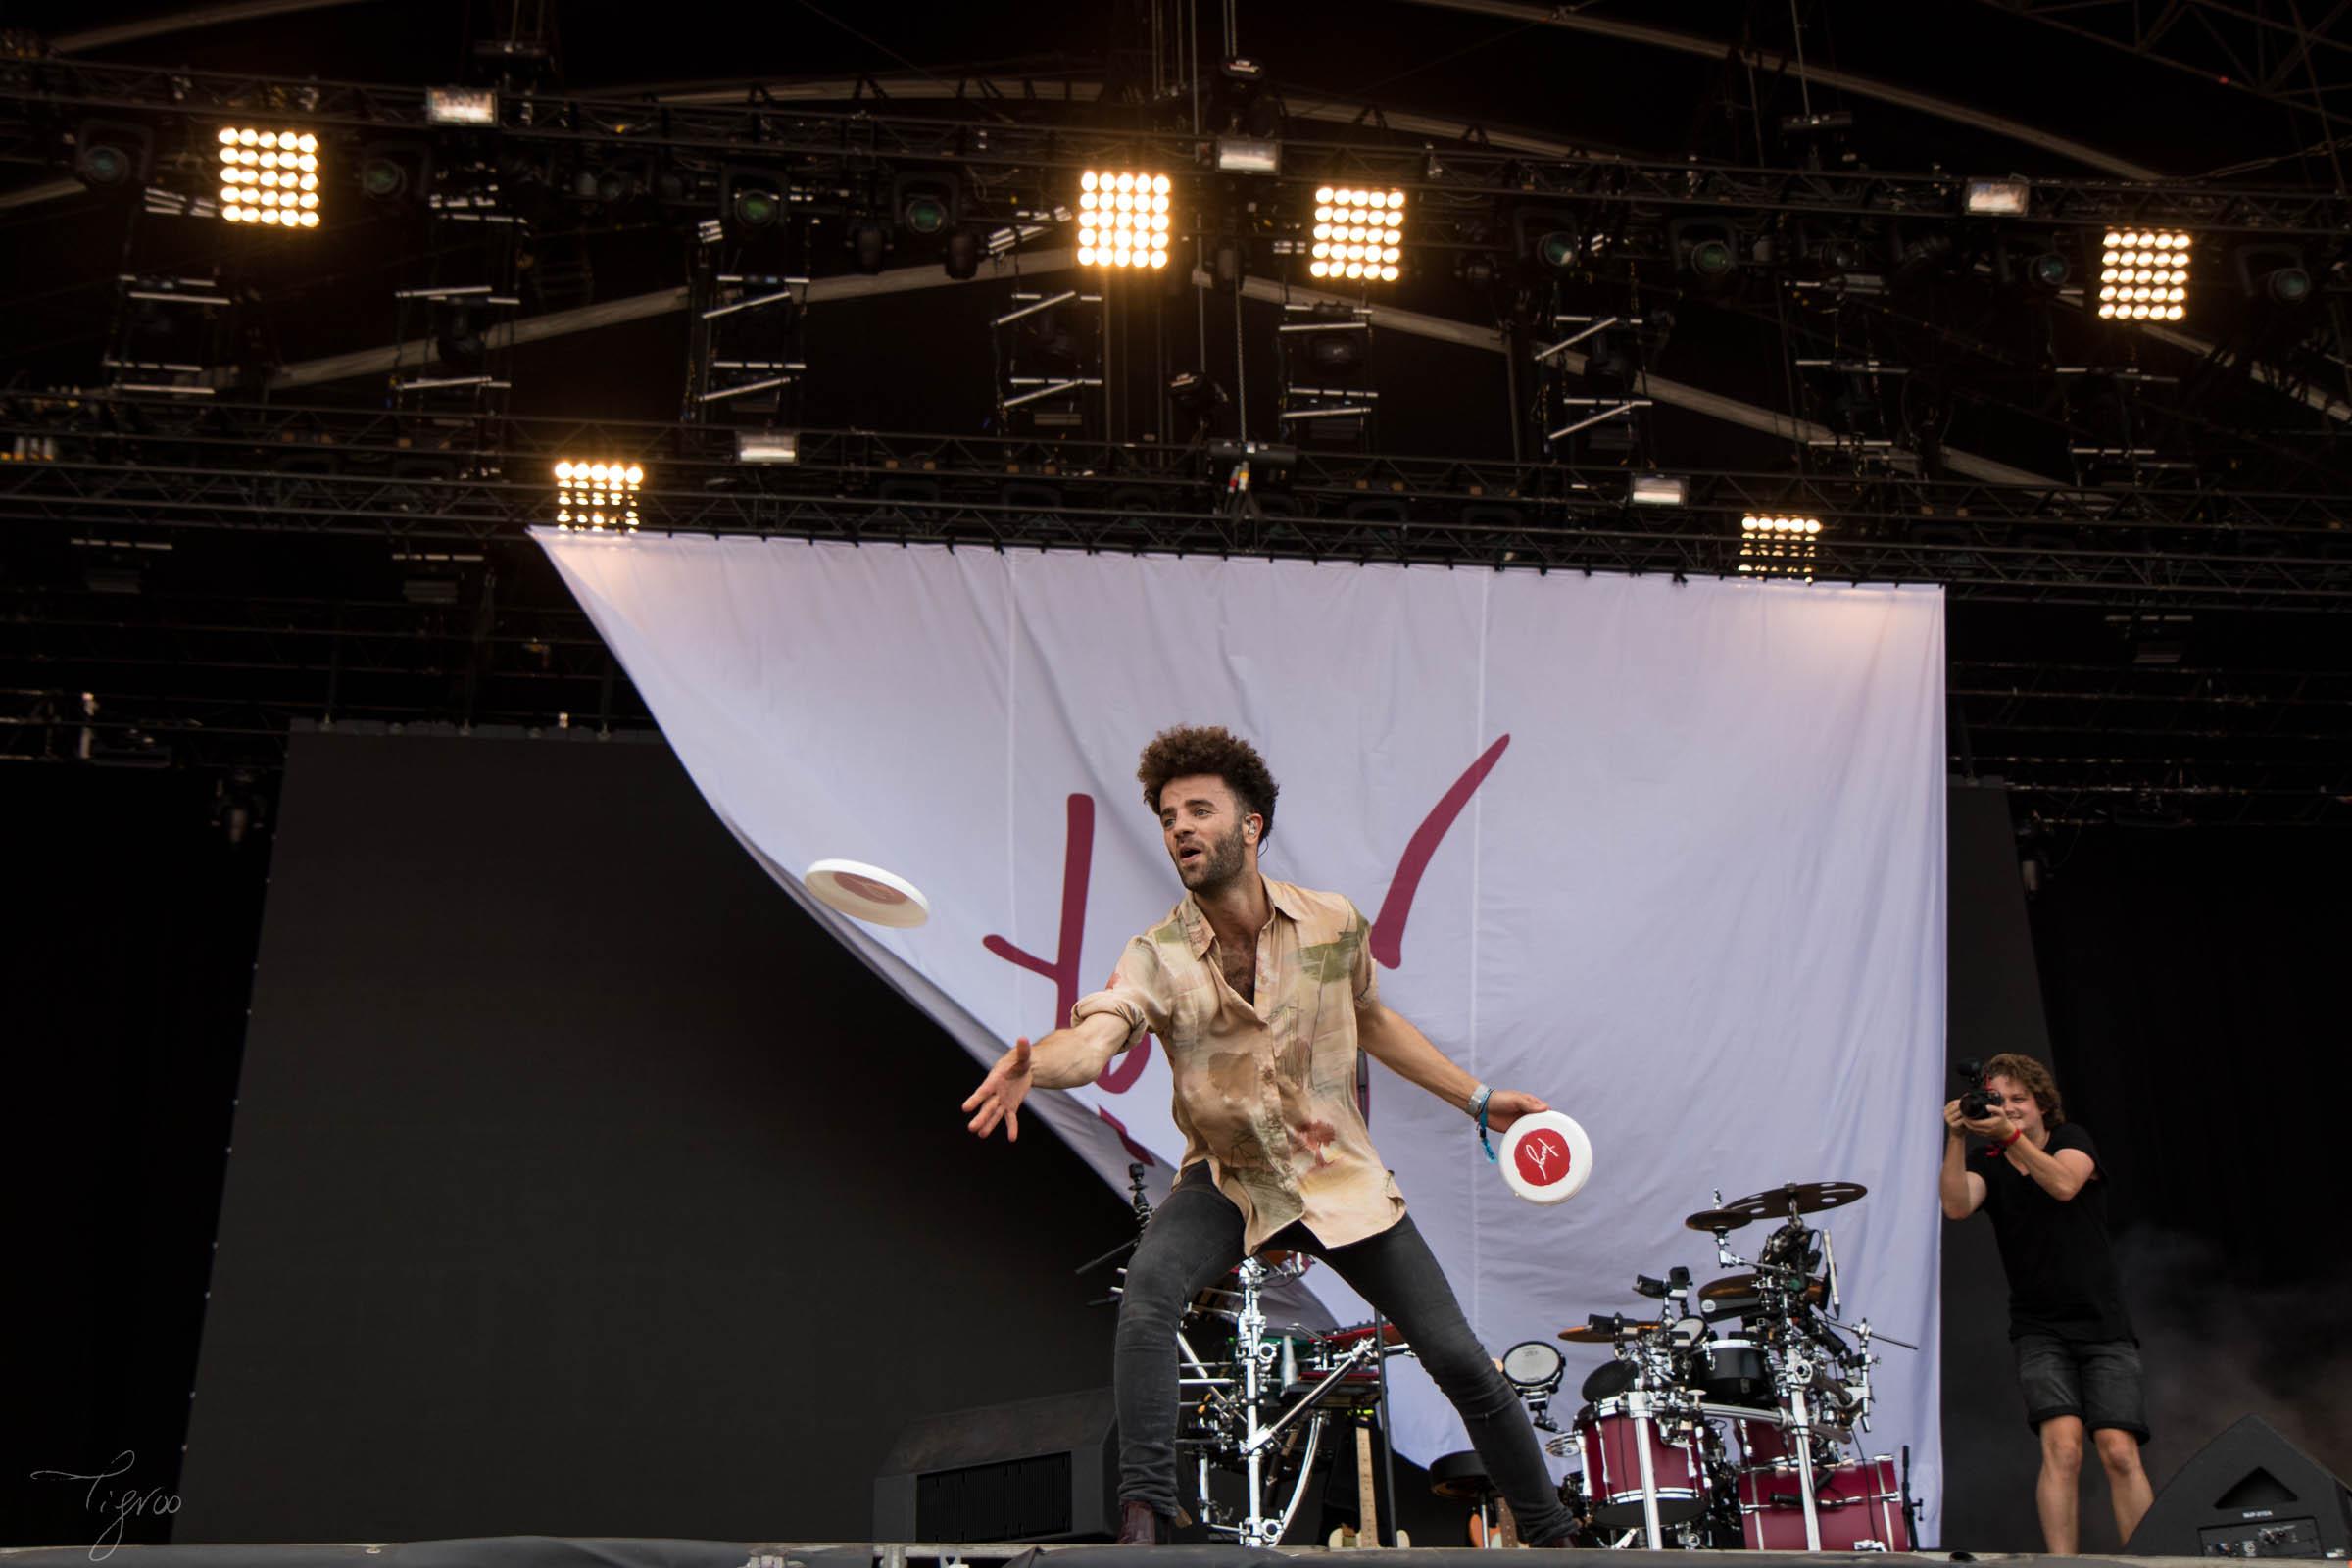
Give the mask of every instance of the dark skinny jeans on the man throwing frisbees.
[[[1569, 1530], [1569, 1512], [1543, 1465], [1536, 1429], [1470, 1333], [1470, 1319], [1411, 1215], [1348, 1246], [1324, 1246], [1303, 1222], [1294, 1222], [1268, 1237], [1265, 1246], [1324, 1260], [1397, 1326], [1461, 1413], [1470, 1446], [1510, 1502], [1519, 1540], [1543, 1542]], [[1242, 1211], [1209, 1182], [1209, 1166], [1188, 1166], [1143, 1227], [1120, 1295], [1112, 1382], [1122, 1502], [1150, 1502], [1162, 1514], [1176, 1514], [1176, 1321], [1185, 1302], [1240, 1262]]]

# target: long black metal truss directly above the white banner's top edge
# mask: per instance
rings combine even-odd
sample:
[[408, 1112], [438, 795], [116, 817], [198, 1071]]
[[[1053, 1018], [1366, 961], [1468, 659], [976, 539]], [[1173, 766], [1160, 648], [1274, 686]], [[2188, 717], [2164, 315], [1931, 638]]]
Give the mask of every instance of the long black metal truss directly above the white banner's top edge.
[[795, 465], [739, 465], [724, 433], [694, 425], [489, 421], [501, 440], [480, 447], [390, 414], [202, 416], [202, 433], [143, 435], [0, 423], [59, 454], [0, 465], [0, 520], [494, 543], [555, 522], [555, 456], [607, 454], [649, 468], [640, 510], [677, 534], [1736, 576], [1740, 515], [1802, 512], [1828, 524], [1813, 574], [1830, 581], [2352, 609], [2352, 534], [2317, 494], [1691, 473], [1686, 505], [1635, 508], [1609, 468], [1303, 454], [1289, 496], [1235, 515], [1204, 454], [1155, 444], [804, 430]]

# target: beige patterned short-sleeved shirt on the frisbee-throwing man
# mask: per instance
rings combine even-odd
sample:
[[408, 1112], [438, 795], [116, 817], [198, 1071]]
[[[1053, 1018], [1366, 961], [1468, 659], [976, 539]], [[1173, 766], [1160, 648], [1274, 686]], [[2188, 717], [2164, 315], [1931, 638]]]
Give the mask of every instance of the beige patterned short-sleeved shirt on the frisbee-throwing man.
[[1122, 1051], [1145, 1030], [1160, 1037], [1183, 1164], [1209, 1161], [1209, 1180], [1242, 1208], [1249, 1251], [1291, 1220], [1348, 1246], [1404, 1218], [1355, 1100], [1355, 1013], [1381, 999], [1371, 922], [1338, 893], [1272, 877], [1265, 898], [1256, 1004], [1225, 983], [1216, 931], [1185, 893], [1127, 943], [1110, 987], [1080, 997], [1070, 1023], [1117, 1013]]

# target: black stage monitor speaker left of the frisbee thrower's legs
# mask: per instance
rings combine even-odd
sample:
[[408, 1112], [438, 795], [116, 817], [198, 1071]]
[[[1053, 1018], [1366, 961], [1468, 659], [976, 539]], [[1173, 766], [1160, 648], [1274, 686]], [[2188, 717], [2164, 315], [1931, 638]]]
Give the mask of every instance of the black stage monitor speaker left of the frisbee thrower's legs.
[[1117, 1467], [1110, 1389], [917, 1415], [875, 1476], [875, 1540], [1110, 1540]]

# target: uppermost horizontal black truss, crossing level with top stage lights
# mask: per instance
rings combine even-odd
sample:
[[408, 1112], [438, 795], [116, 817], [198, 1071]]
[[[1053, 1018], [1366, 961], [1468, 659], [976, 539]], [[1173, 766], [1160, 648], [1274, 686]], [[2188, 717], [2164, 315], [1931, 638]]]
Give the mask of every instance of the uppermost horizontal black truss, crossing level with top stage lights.
[[[313, 129], [433, 134], [421, 87], [308, 82], [292, 78], [99, 66], [82, 61], [0, 61], [0, 101], [78, 113], [143, 113], [219, 122], [266, 103]], [[642, 99], [503, 96], [506, 143], [644, 146], [722, 153], [811, 169], [842, 160], [962, 165], [997, 176], [1035, 172], [1061, 179], [1105, 160], [1200, 167], [1204, 139], [1188, 132], [1120, 132], [1023, 122], [1002, 110], [931, 115], [823, 113], [779, 103], [647, 106]], [[1955, 174], [1870, 169], [1736, 169], [1672, 160], [1599, 155], [1536, 158], [1475, 143], [1428, 148], [1362, 141], [1284, 141], [1284, 179], [1359, 179], [1430, 195], [1510, 202], [1606, 202], [1653, 209], [1748, 209], [1849, 216], [1952, 216]], [[2352, 193], [2239, 190], [2194, 183], [2039, 181], [2034, 221], [2060, 228], [2178, 226], [2199, 233], [2333, 235], [2352, 228]]]

